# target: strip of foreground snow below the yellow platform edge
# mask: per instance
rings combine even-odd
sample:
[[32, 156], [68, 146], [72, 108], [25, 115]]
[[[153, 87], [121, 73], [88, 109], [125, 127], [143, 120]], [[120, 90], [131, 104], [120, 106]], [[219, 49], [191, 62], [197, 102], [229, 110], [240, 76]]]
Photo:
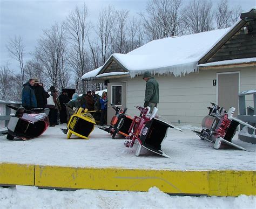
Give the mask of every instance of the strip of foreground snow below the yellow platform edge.
[[56, 191], [32, 186], [0, 187], [0, 207], [5, 208], [255, 208], [255, 196], [169, 196], [156, 187], [148, 192], [102, 190]]

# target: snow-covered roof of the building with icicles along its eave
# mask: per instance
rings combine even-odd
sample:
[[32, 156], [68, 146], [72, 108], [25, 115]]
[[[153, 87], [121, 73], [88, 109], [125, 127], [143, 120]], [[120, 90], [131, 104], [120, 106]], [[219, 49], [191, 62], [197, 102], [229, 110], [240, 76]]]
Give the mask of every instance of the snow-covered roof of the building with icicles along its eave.
[[[173, 74], [174, 76], [197, 72], [198, 67], [203, 66], [198, 65], [198, 61], [217, 45], [240, 21], [241, 19], [227, 29], [153, 40], [127, 54], [114, 53], [100, 69], [97, 68], [89, 73], [85, 73], [82, 79], [127, 74], [125, 72], [112, 72], [110, 74], [102, 72], [104, 66], [113, 58], [129, 71], [131, 78], [142, 74], [144, 71], [150, 71], [152, 74]], [[248, 62], [249, 60], [237, 61]]]

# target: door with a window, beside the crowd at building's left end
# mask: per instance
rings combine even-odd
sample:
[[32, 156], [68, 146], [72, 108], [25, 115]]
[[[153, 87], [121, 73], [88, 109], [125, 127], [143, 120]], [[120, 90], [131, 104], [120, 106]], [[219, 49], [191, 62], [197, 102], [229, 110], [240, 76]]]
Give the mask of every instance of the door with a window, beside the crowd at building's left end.
[[126, 82], [107, 83], [107, 124], [110, 125], [112, 117], [116, 114], [111, 103], [124, 109], [126, 107]]

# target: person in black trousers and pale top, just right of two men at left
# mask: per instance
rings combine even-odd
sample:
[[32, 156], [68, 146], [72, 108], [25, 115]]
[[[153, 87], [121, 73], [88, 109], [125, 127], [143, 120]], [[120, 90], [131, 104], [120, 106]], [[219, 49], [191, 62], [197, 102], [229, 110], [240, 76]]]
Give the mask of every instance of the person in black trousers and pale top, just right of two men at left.
[[57, 124], [57, 114], [58, 111], [56, 109], [56, 105], [57, 105], [57, 91], [55, 89], [54, 86], [51, 86], [49, 91], [49, 98], [47, 99], [47, 107], [50, 109], [49, 112], [49, 122], [50, 122], [50, 126], [53, 127]]

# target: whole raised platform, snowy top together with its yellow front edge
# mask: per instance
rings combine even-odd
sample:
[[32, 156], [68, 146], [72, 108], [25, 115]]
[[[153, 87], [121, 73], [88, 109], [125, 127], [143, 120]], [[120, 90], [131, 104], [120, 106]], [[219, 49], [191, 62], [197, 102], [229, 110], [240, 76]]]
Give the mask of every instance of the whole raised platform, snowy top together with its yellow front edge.
[[[113, 140], [98, 127], [90, 140], [70, 140], [60, 128], [50, 127], [30, 141], [8, 141], [0, 137], [0, 185], [30, 185], [56, 189], [148, 191], [156, 186], [172, 194], [207, 196], [255, 195], [255, 144], [234, 143], [233, 148], [214, 150], [191, 130], [169, 129], [162, 143], [165, 158], [137, 145], [124, 146], [124, 138]], [[182, 128], [182, 127], [181, 127]]]

